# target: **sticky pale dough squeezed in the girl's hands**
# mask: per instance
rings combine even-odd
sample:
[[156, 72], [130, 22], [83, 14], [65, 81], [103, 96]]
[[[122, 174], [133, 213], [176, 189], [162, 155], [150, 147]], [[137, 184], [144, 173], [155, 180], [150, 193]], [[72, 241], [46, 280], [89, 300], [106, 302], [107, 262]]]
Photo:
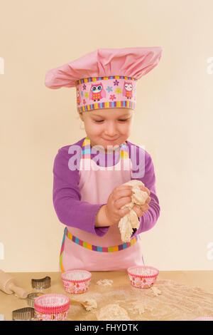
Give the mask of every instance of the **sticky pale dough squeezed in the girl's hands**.
[[139, 186], [144, 186], [143, 182], [140, 180], [130, 180], [123, 185], [132, 186], [133, 195], [131, 195], [131, 202], [121, 207], [121, 209], [129, 207], [131, 210], [124, 215], [124, 217], [121, 217], [121, 220], [119, 221], [119, 230], [121, 232], [121, 240], [123, 242], [130, 242], [133, 228], [138, 229], [140, 225], [138, 215], [136, 215], [136, 212], [132, 210], [132, 208], [134, 205], [144, 205], [148, 198], [148, 193], [140, 189]]

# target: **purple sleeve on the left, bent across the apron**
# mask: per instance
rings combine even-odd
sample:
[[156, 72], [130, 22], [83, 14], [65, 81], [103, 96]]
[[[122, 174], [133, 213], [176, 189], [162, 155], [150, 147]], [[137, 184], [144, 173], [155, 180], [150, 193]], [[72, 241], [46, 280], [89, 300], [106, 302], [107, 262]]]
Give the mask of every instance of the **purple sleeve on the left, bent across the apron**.
[[64, 225], [104, 236], [109, 227], [94, 227], [95, 217], [102, 205], [81, 201], [79, 170], [70, 170], [70, 146], [60, 148], [53, 165], [53, 205], [58, 220]]

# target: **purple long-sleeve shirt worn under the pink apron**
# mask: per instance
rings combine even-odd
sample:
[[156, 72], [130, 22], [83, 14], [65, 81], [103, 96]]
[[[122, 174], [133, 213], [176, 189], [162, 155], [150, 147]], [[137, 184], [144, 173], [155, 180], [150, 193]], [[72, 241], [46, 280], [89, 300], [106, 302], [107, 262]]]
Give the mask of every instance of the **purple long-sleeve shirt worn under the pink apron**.
[[[83, 142], [84, 138], [73, 145], [83, 150]], [[126, 143], [129, 148], [129, 158], [132, 162], [132, 179], [141, 180], [148, 190], [150, 190], [151, 197], [151, 201], [148, 204], [149, 209], [143, 213], [142, 217], [138, 218], [140, 225], [138, 230], [133, 233], [132, 239], [136, 234], [151, 230], [160, 215], [160, 205], [155, 190], [155, 172], [151, 155], [143, 148], [134, 145], [128, 140], [126, 140]], [[60, 222], [64, 225], [75, 227], [102, 237], [107, 233], [109, 227], [94, 227], [94, 224], [99, 208], [102, 207], [102, 205], [106, 205], [106, 203], [90, 204], [89, 202], [81, 201], [78, 186], [80, 182], [78, 165], [80, 159], [77, 160], [78, 167], [76, 169], [70, 170], [68, 164], [72, 155], [75, 155], [75, 157], [79, 155], [78, 157], [80, 158], [81, 151], [72, 150], [70, 147], [72, 147], [72, 145], [66, 145], [60, 148], [58, 154], [55, 156], [53, 165], [53, 205], [55, 212]], [[99, 154], [99, 161], [96, 159], [97, 153]], [[109, 155], [111, 155], [111, 160], [109, 160]], [[110, 166], [109, 162], [111, 162], [111, 165], [115, 165], [119, 162], [120, 154], [119, 150], [114, 153], [106, 154], [92, 149], [91, 159], [95, 160], [97, 165]]]

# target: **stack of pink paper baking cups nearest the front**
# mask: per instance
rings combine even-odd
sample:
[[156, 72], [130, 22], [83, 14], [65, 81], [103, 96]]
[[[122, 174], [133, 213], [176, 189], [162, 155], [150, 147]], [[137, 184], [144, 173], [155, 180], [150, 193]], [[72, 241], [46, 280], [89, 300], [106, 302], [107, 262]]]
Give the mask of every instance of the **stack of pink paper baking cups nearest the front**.
[[64, 321], [70, 308], [70, 299], [64, 294], [43, 294], [34, 300], [37, 320]]

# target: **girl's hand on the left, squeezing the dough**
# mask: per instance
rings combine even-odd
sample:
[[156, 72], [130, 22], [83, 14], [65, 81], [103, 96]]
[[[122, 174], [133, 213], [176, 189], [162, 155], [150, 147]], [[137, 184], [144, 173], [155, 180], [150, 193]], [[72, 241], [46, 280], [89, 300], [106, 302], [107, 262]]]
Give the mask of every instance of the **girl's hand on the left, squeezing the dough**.
[[129, 208], [126, 207], [121, 210], [121, 207], [131, 202], [132, 186], [121, 185], [114, 188], [109, 195], [107, 205], [105, 205], [105, 213], [109, 226], [119, 223], [121, 217], [124, 217], [129, 212]]

